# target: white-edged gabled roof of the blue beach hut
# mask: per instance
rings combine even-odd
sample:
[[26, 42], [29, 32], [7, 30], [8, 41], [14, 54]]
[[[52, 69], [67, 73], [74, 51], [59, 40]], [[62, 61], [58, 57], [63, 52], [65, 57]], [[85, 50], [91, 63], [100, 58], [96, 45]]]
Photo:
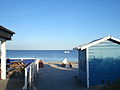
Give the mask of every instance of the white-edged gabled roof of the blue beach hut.
[[110, 40], [110, 41], [112, 41], [112, 42], [115, 42], [115, 43], [120, 44], [120, 39], [114, 38], [114, 37], [112, 37], [112, 36], [106, 36], [106, 37], [103, 37], [103, 38], [100, 38], [100, 39], [97, 39], [97, 40], [93, 40], [93, 41], [91, 41], [91, 42], [89, 42], [89, 43], [87, 43], [87, 44], [84, 44], [84, 45], [80, 45], [80, 46], [78, 46], [78, 47], [75, 47], [74, 49], [84, 50], [84, 49], [86, 49], [86, 48], [89, 48], [89, 47], [91, 47], [91, 46], [94, 46], [94, 45], [96, 45], [96, 44], [98, 44], [98, 43], [101, 43], [101, 42], [103, 42], [103, 41], [106, 41], [106, 40]]

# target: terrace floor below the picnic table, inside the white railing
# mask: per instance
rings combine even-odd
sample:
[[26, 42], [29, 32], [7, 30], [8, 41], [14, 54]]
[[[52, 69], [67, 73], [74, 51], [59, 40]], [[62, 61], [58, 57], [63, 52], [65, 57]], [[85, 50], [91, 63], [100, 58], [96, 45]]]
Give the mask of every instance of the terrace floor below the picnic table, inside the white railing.
[[0, 80], [0, 90], [22, 90], [24, 85], [24, 72], [14, 73], [6, 80]]

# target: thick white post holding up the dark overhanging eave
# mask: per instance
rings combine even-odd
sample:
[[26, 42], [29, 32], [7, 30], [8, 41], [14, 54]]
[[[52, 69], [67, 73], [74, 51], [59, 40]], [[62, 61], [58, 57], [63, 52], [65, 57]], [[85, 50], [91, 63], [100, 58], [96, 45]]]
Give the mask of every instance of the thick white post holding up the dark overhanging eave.
[[6, 40], [1, 41], [1, 79], [6, 79]]

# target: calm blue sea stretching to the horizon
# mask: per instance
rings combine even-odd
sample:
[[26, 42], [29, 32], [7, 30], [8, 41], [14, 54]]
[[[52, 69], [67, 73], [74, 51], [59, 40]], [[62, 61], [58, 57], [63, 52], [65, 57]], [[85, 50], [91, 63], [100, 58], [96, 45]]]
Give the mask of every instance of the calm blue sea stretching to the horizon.
[[77, 50], [70, 50], [70, 53], [64, 53], [65, 50], [7, 50], [7, 58], [40, 58], [43, 61], [77, 61]]

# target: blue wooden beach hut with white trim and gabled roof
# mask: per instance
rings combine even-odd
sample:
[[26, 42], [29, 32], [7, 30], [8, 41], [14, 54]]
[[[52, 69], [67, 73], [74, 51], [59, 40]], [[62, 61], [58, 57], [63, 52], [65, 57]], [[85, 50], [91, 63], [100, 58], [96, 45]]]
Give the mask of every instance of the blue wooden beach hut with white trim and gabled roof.
[[75, 49], [78, 50], [79, 78], [88, 88], [120, 78], [120, 39], [107, 36]]

